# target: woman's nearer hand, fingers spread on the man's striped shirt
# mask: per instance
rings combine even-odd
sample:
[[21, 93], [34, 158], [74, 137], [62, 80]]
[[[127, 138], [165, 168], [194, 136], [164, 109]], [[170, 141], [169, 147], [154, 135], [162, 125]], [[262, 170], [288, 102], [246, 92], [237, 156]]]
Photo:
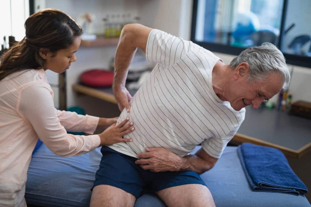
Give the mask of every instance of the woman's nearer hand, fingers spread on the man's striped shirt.
[[[134, 131], [134, 123], [128, 122], [129, 118], [126, 118], [123, 122], [116, 125], [116, 123], [112, 124], [105, 131], [99, 134], [100, 137], [100, 146], [103, 145], [113, 145], [118, 142], [131, 142], [132, 139], [124, 139], [123, 136]], [[126, 124], [126, 125], [125, 125]]]

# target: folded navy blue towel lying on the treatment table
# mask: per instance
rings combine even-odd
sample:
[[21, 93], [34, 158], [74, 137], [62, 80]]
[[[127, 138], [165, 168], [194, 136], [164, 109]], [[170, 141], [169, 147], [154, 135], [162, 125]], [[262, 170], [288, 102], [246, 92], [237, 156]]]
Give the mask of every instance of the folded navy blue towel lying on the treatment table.
[[243, 143], [238, 154], [248, 182], [254, 191], [304, 195], [307, 187], [290, 168], [278, 149]]

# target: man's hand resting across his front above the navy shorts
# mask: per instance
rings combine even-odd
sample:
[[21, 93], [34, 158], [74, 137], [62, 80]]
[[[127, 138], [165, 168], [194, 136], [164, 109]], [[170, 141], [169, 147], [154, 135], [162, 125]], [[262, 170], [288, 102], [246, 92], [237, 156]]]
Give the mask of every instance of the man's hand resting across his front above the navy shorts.
[[152, 172], [179, 171], [182, 165], [182, 157], [162, 147], [146, 148], [145, 153], [137, 155], [135, 161], [144, 170]]

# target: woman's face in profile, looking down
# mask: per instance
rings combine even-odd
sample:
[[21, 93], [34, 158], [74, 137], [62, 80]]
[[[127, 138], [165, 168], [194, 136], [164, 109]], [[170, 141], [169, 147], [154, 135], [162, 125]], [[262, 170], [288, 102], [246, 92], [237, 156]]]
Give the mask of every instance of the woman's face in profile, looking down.
[[81, 37], [77, 37], [68, 48], [60, 49], [56, 54], [47, 52], [43, 69], [49, 69], [56, 73], [66, 71], [70, 67], [70, 64], [77, 60], [75, 52], [79, 49], [80, 43]]

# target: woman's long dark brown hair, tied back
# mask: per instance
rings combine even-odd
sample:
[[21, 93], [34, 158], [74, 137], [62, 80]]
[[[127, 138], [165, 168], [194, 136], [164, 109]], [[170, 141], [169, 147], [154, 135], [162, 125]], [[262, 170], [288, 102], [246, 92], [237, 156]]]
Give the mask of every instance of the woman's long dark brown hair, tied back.
[[29, 16], [25, 29], [25, 38], [2, 54], [0, 81], [16, 71], [40, 69], [44, 63], [39, 55], [40, 48], [48, 48], [56, 54], [82, 34], [81, 27], [70, 16], [51, 8]]

